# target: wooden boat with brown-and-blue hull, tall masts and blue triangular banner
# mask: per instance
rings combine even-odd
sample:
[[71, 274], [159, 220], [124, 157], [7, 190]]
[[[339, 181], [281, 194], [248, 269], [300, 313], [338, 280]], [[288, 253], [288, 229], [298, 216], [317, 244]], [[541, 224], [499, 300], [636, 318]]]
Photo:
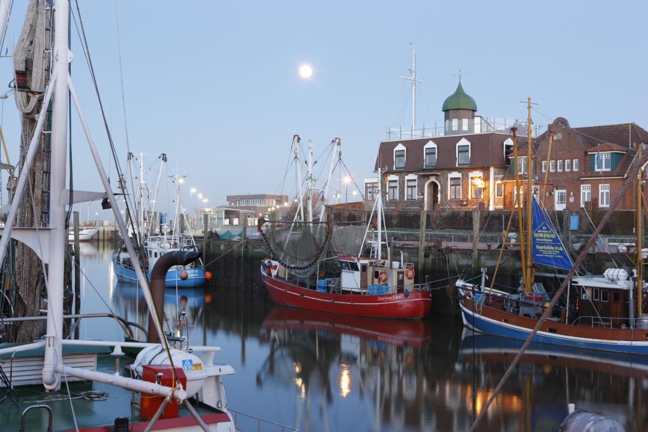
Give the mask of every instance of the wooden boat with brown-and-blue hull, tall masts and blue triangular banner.
[[[545, 313], [550, 294], [535, 281], [535, 264], [572, 270], [573, 261], [538, 202], [539, 188], [533, 185], [531, 148], [531, 101], [529, 99], [529, 136], [527, 138], [526, 220], [522, 219], [520, 170], [517, 169], [516, 128], [511, 128], [514, 140], [516, 207], [520, 226], [522, 251], [522, 283], [518, 293], [507, 293], [485, 285], [485, 270], [481, 283], [469, 283], [459, 278], [461, 316], [465, 326], [482, 333], [527, 339]], [[636, 162], [639, 164], [640, 146]], [[642, 171], [636, 180], [637, 202], [642, 202]], [[637, 213], [637, 256], [634, 269], [607, 269], [600, 276], [576, 276], [568, 281], [566, 299], [556, 304], [551, 315], [540, 326], [533, 342], [545, 342], [592, 350], [648, 355], [648, 315], [645, 314], [644, 293], [648, 285], [642, 277], [642, 217]], [[522, 235], [526, 227], [526, 235]], [[509, 244], [511, 245], [511, 244]], [[500, 255], [501, 256], [501, 255]]]

